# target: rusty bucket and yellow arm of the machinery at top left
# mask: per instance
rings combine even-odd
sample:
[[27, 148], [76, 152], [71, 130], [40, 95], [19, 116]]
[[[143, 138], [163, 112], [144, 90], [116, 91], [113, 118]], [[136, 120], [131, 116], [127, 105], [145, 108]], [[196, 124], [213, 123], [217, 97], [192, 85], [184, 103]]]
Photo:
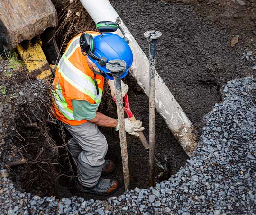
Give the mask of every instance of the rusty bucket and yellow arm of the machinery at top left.
[[57, 20], [51, 0], [0, 0], [1, 46], [17, 48], [33, 77], [42, 79], [52, 74], [38, 38], [47, 28], [55, 28]]

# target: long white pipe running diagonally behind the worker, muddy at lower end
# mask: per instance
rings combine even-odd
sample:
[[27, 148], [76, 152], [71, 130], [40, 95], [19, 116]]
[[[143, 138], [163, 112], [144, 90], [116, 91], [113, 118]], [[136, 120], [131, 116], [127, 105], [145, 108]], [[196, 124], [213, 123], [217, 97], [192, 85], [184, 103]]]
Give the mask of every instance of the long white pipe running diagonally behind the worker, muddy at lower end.
[[[107, 20], [118, 22], [123, 28], [126, 37], [130, 41], [129, 45], [133, 52], [134, 60], [130, 73], [136, 78], [137, 83], [144, 89], [146, 95], [148, 96], [149, 60], [132, 34], [129, 32], [128, 28], [122, 22], [109, 0], [80, 1], [95, 23]], [[121, 35], [120, 31], [118, 31], [117, 34]], [[194, 127], [158, 73], [156, 73], [155, 106], [157, 112], [165, 120], [165, 123], [172, 131], [175, 138], [179, 141], [185, 152], [190, 155], [196, 146]]]

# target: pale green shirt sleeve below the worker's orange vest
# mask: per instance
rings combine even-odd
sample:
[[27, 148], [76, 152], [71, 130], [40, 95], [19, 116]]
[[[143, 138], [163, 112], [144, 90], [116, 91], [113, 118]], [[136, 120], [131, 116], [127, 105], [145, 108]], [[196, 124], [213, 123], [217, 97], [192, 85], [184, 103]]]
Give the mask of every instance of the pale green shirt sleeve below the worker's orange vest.
[[91, 104], [85, 100], [71, 100], [71, 102], [75, 120], [91, 120], [96, 117], [97, 104]]

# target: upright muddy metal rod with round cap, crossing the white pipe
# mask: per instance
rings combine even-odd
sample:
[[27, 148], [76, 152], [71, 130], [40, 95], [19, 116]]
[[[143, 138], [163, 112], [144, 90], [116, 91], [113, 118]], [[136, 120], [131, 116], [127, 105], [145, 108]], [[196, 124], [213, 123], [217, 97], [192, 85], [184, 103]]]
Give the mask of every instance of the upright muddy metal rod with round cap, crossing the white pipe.
[[162, 33], [160, 31], [146, 31], [149, 43], [149, 184], [154, 186], [155, 159], [155, 55], [156, 44]]

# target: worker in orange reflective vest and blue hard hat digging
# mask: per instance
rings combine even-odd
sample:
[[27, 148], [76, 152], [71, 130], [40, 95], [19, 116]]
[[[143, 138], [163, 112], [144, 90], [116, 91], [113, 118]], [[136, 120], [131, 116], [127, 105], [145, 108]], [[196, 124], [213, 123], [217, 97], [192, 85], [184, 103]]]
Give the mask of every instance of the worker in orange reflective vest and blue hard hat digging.
[[[114, 169], [111, 160], [105, 160], [108, 144], [98, 126], [118, 130], [117, 119], [110, 118], [97, 108], [101, 102], [104, 77], [113, 79], [106, 69], [107, 61], [124, 60], [132, 64], [132, 51], [123, 38], [116, 34], [86, 32], [74, 37], [59, 61], [53, 82], [55, 117], [64, 123], [72, 138], [69, 149], [77, 163], [78, 189], [85, 193], [109, 195], [118, 189], [118, 182], [101, 176]], [[111, 95], [115, 96], [113, 80], [108, 80]], [[128, 86], [122, 82], [122, 95]], [[138, 136], [144, 130], [142, 122], [125, 119], [125, 129]]]

